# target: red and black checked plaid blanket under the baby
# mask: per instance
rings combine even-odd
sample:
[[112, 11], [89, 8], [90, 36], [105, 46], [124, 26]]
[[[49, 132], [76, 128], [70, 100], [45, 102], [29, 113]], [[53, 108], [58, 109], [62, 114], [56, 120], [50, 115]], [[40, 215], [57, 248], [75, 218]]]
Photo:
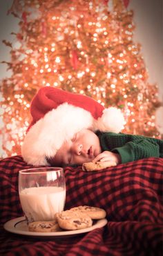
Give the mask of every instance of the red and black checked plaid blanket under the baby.
[[146, 158], [86, 173], [66, 167], [66, 207], [92, 205], [107, 212], [103, 228], [73, 237], [27, 237], [3, 229], [23, 216], [18, 172], [31, 166], [21, 156], [0, 162], [1, 256], [163, 255], [163, 159]]

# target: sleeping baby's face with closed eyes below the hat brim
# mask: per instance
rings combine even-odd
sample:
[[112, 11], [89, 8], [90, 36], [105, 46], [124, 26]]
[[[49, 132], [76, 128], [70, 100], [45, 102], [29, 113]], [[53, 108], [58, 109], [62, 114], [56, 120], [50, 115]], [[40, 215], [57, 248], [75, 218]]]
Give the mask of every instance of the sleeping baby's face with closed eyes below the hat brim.
[[73, 139], [64, 142], [49, 162], [55, 166], [83, 164], [91, 162], [101, 152], [97, 135], [91, 130], [83, 129], [76, 133]]

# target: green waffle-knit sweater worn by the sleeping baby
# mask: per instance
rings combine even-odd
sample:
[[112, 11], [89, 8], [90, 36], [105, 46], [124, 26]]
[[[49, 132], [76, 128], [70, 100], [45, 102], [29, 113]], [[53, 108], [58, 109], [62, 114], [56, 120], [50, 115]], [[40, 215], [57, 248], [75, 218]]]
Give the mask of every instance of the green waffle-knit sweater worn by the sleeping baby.
[[97, 132], [102, 151], [119, 153], [122, 163], [146, 157], [163, 158], [163, 140], [142, 135]]

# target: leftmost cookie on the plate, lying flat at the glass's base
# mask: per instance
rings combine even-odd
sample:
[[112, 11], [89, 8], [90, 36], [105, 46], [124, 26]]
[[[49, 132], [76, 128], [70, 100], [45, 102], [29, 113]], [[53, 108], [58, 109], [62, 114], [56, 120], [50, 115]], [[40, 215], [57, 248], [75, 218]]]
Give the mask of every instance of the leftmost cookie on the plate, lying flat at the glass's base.
[[59, 231], [57, 221], [33, 221], [28, 224], [28, 230], [32, 232], [56, 232]]

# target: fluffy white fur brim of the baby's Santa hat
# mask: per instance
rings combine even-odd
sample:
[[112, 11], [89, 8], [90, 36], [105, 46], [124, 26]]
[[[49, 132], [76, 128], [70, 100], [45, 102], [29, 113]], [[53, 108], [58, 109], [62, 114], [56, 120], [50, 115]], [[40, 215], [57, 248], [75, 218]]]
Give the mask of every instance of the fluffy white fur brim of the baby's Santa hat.
[[93, 128], [90, 112], [68, 103], [48, 112], [28, 131], [21, 154], [28, 164], [48, 165], [46, 157], [54, 157], [66, 139], [83, 128]]

